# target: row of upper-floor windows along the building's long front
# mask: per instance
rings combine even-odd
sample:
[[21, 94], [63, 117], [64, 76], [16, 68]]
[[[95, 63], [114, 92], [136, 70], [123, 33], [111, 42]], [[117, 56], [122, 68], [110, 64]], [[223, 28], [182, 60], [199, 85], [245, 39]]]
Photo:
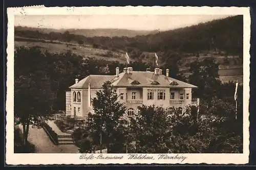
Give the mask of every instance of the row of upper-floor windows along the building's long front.
[[[123, 93], [120, 93], [120, 99], [123, 100]], [[136, 92], [132, 92], [132, 99], [136, 99]], [[165, 92], [158, 92], [157, 93], [158, 100], [165, 100]], [[170, 99], [175, 99], [175, 93], [170, 93]], [[180, 93], [180, 99], [184, 99], [184, 94]], [[189, 99], [189, 93], [186, 93], [186, 99]], [[154, 100], [154, 92], [147, 92], [147, 100]]]

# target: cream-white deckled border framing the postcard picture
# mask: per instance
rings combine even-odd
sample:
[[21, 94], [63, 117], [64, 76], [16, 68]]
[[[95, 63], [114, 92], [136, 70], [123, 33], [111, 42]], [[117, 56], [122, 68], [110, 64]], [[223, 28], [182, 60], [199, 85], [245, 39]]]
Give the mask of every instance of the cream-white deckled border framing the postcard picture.
[[[7, 36], [7, 100], [6, 100], [6, 163], [19, 164], [123, 164], [123, 163], [208, 163], [244, 164], [249, 159], [249, 64], [250, 64], [250, 13], [248, 7], [23, 7], [8, 8]], [[244, 59], [243, 59], [243, 154], [167, 154], [186, 157], [180, 159], [158, 159], [159, 154], [141, 154], [154, 159], [128, 159], [129, 154], [102, 154], [123, 156], [122, 159], [89, 159], [100, 154], [14, 154], [14, 15], [243, 15]], [[138, 154], [140, 155], [140, 154]], [[83, 157], [84, 159], [79, 159]], [[85, 159], [87, 158], [87, 159]]]

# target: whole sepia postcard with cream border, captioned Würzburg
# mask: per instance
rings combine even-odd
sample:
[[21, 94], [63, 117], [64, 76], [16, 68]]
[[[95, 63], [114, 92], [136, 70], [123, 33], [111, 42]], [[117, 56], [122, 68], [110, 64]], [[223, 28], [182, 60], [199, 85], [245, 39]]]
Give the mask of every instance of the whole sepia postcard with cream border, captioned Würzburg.
[[7, 13], [7, 164], [248, 163], [249, 8]]

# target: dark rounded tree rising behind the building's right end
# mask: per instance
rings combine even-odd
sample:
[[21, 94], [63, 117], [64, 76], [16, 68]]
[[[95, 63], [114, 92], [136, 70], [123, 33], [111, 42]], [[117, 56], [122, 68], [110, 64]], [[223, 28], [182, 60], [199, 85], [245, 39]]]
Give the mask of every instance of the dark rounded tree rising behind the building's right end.
[[192, 73], [188, 77], [189, 83], [198, 86], [193, 95], [205, 99], [210, 104], [221, 84], [218, 73], [219, 64], [214, 58], [207, 58], [201, 62], [194, 61], [190, 64], [189, 70]]

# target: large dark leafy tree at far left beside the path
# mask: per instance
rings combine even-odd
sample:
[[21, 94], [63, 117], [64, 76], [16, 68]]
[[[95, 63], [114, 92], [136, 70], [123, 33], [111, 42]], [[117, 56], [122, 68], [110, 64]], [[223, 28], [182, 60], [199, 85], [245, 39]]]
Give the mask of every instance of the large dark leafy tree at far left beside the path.
[[17, 48], [14, 59], [14, 116], [27, 145], [29, 126], [40, 127], [52, 113], [53, 92], [47, 60], [37, 48]]

